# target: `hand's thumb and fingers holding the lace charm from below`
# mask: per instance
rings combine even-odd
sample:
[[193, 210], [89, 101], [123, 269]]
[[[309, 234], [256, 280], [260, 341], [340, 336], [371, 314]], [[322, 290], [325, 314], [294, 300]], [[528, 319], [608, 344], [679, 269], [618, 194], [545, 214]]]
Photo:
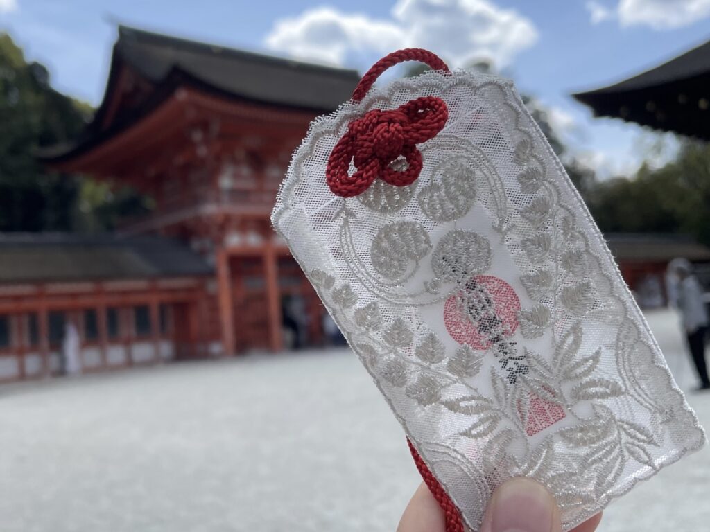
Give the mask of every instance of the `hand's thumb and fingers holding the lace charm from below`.
[[[601, 514], [571, 532], [594, 532]], [[398, 532], [444, 532], [444, 514], [422, 482], [405, 509]], [[481, 532], [560, 532], [559, 508], [542, 484], [515, 478], [501, 485], [488, 502]]]

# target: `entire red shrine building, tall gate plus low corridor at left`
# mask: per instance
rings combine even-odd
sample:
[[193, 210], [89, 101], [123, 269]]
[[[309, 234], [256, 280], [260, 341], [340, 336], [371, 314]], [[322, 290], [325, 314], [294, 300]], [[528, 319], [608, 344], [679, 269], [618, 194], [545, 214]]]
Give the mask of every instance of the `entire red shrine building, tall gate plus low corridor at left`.
[[358, 81], [119, 27], [92, 122], [41, 158], [155, 209], [115, 235], [0, 237], [0, 380], [61, 372], [67, 323], [85, 371], [320, 343], [324, 308], [269, 216], [310, 121]]

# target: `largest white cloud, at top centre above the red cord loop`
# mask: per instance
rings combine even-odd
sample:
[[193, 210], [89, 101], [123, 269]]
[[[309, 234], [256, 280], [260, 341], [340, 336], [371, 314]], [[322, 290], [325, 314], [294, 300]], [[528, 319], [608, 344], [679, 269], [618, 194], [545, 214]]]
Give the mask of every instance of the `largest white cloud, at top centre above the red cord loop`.
[[339, 65], [350, 53], [417, 47], [436, 50], [452, 67], [488, 59], [501, 68], [537, 41], [537, 30], [488, 0], [398, 0], [390, 19], [304, 11], [277, 21], [265, 41], [273, 50]]

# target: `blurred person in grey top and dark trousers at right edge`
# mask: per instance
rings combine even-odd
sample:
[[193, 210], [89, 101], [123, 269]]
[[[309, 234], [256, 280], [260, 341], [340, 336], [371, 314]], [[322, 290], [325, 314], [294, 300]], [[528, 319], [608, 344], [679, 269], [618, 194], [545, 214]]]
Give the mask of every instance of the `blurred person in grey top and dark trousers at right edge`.
[[703, 301], [703, 289], [693, 275], [693, 266], [686, 259], [674, 259], [668, 265], [675, 278], [675, 304], [682, 316], [690, 355], [700, 377], [699, 390], [710, 389], [705, 360], [705, 340], [708, 330], [708, 312]]

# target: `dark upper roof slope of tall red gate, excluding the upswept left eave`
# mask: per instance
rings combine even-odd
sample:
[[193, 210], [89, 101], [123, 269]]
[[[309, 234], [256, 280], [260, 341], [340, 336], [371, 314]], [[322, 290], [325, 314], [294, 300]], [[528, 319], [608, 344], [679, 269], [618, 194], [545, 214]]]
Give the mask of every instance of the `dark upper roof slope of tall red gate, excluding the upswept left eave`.
[[324, 67], [119, 27], [114, 50], [155, 84], [179, 70], [246, 99], [332, 111], [359, 81], [355, 70]]

